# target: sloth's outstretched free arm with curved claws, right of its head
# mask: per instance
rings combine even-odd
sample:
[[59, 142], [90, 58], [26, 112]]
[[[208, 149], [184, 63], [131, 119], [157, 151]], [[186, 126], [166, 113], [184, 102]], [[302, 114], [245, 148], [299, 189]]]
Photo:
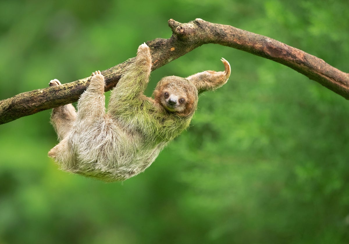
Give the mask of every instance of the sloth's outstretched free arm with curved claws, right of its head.
[[207, 70], [187, 77], [198, 89], [199, 94], [204, 91], [213, 91], [227, 83], [230, 76], [230, 64], [224, 58], [221, 59], [224, 64], [224, 71]]

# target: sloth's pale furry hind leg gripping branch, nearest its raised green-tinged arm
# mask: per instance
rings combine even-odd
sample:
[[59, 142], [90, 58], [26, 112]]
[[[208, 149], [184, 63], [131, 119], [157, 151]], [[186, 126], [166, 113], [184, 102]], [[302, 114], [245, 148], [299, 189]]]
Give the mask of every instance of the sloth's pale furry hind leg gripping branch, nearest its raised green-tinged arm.
[[105, 115], [104, 76], [92, 73], [90, 85], [77, 101], [77, 120], [95, 121]]

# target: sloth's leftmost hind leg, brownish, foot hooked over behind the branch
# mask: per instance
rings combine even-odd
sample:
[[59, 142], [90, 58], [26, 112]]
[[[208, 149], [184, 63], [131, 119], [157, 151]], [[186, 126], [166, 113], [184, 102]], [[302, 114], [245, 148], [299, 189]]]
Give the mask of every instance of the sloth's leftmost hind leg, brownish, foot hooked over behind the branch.
[[[50, 86], [61, 85], [58, 79], [53, 79]], [[62, 140], [70, 130], [73, 122], [76, 120], [76, 111], [72, 104], [67, 104], [52, 109], [51, 124], [57, 133], [58, 139]]]

